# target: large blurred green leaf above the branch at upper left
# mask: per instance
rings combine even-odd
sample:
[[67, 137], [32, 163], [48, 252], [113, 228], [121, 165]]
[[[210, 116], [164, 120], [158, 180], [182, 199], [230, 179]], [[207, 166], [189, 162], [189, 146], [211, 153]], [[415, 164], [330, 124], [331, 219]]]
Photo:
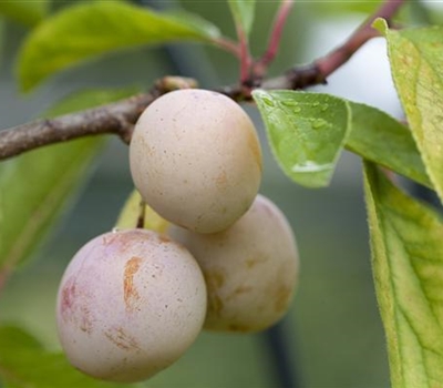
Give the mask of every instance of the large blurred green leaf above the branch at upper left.
[[65, 8], [25, 40], [18, 62], [21, 88], [29, 91], [58, 71], [116, 50], [183, 40], [212, 42], [218, 37], [214, 25], [196, 18], [177, 18], [119, 1]]

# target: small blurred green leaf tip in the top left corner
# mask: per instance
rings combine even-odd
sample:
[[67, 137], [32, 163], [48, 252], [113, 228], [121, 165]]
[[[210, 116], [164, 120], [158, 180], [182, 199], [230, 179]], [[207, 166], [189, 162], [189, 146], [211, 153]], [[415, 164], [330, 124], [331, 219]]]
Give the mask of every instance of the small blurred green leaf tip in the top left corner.
[[48, 0], [3, 0], [0, 1], [0, 14], [27, 27], [33, 27], [47, 14], [48, 4]]

